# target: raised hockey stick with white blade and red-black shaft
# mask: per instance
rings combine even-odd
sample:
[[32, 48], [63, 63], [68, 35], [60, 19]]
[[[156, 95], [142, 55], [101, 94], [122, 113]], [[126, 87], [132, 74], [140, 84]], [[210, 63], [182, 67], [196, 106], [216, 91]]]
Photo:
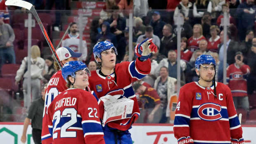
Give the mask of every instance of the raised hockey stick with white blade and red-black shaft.
[[52, 51], [52, 54], [54, 56], [54, 58], [56, 59], [57, 61], [57, 64], [59, 65], [60, 68], [62, 68], [62, 63], [59, 61], [59, 57], [57, 56], [56, 52], [55, 52], [55, 49], [52, 45], [52, 42], [48, 36], [48, 34], [46, 33], [45, 31], [45, 27], [43, 26], [42, 24], [42, 21], [40, 20], [40, 18], [38, 17], [38, 14], [36, 12], [36, 9], [33, 7], [33, 5], [29, 2], [26, 2], [26, 1], [23, 1], [23, 0], [7, 0], [5, 2], [5, 5], [12, 5], [12, 6], [17, 6], [17, 7], [24, 7], [26, 9], [28, 9], [33, 15], [34, 17], [36, 18], [36, 21], [38, 22], [38, 25], [40, 26], [42, 32], [43, 32], [43, 35], [45, 36], [45, 39], [48, 43], [48, 45], [50, 46], [50, 49]]

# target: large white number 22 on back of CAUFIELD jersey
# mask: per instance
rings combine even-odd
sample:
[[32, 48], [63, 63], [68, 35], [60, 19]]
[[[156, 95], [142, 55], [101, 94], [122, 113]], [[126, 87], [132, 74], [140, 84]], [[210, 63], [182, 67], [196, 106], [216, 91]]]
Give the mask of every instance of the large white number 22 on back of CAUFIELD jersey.
[[[61, 117], [67, 117], [68, 115], [70, 115], [71, 120], [64, 123], [64, 125], [62, 125], [62, 127], [57, 128], [57, 125], [59, 124], [60, 118]], [[56, 120], [56, 121], [55, 121], [53, 130], [52, 130], [52, 133], [53, 133], [52, 138], [53, 139], [58, 137], [58, 132], [55, 132], [55, 130], [59, 130], [59, 129], [60, 129], [60, 137], [76, 137], [76, 132], [66, 131], [66, 129], [68, 129], [69, 127], [71, 127], [71, 125], [73, 125], [77, 122], [77, 111], [76, 111], [76, 109], [66, 108], [66, 109], [64, 109], [64, 111], [62, 111], [62, 115], [61, 115], [60, 110], [56, 111], [53, 115], [53, 121], [54, 120]]]

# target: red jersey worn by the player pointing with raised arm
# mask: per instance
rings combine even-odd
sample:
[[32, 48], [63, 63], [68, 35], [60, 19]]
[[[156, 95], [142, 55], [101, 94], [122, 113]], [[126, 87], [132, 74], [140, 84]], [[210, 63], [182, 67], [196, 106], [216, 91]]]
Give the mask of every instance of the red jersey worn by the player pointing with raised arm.
[[[90, 89], [96, 93], [98, 98], [103, 97], [106, 94], [121, 94], [134, 101], [131, 118], [111, 121], [107, 123], [109, 127], [125, 131], [131, 127], [135, 120], [137, 120], [140, 115], [140, 110], [133, 91], [132, 83], [148, 75], [150, 70], [151, 62], [149, 59], [143, 62], [136, 59], [135, 61], [125, 61], [116, 64], [115, 73], [106, 77], [101, 76], [99, 70], [91, 72], [89, 78]], [[100, 111], [102, 112], [100, 115], [102, 117], [104, 112], [104, 107], [102, 107], [103, 102], [99, 101], [98, 103], [100, 105]]]

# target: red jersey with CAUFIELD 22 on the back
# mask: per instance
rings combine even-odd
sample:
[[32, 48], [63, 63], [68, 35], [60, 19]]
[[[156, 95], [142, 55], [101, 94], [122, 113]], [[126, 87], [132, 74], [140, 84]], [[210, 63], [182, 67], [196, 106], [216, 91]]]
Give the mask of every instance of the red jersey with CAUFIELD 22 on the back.
[[47, 125], [54, 144], [105, 144], [97, 100], [85, 90], [59, 94], [48, 108]]

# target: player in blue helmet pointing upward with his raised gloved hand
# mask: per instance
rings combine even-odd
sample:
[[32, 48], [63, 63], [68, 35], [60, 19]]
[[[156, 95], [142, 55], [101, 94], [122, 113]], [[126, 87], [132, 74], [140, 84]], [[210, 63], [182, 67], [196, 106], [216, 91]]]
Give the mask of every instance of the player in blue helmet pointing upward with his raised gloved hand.
[[[113, 121], [112, 119], [103, 127], [106, 144], [133, 143], [128, 129], [137, 120], [140, 111], [132, 83], [150, 73], [151, 62], [149, 56], [156, 50], [157, 47], [152, 39], [146, 39], [136, 46], [135, 53], [138, 58], [135, 61], [116, 64], [117, 50], [113, 43], [102, 41], [97, 42], [93, 47], [94, 57], [97, 63], [101, 64], [101, 69], [92, 71], [92, 76], [89, 79], [90, 88], [95, 91], [98, 98], [109, 94], [112, 96], [119, 95], [121, 99], [127, 98], [128, 101], [133, 101], [133, 107], [125, 109], [126, 112], [130, 111], [131, 113], [125, 114], [124, 118], [122, 116], [122, 119], [119, 120], [116, 116], [116, 120]], [[118, 101], [118, 98], [116, 101]], [[100, 99], [98, 103], [102, 111], [102, 100]], [[104, 104], [106, 103], [104, 102]], [[101, 113], [101, 119], [103, 114], [106, 114], [106, 112]]]

